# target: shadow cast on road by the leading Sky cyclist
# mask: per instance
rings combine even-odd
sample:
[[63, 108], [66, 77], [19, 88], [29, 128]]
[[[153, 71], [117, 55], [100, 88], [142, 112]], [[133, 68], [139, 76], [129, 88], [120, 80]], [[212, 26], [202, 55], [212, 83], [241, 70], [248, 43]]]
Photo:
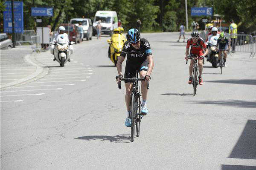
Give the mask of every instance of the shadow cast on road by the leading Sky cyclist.
[[81, 139], [85, 141], [110, 141], [114, 143], [129, 143], [131, 142], [131, 135], [116, 135], [116, 136], [81, 136], [75, 139]]

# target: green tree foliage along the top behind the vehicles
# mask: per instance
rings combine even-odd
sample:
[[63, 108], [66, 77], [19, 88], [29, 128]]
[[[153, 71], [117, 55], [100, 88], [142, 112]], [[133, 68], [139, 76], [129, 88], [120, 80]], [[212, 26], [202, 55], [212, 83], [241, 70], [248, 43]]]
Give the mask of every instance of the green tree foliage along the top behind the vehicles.
[[[35, 2], [35, 5], [33, 4]], [[189, 26], [193, 20], [200, 23], [203, 17], [191, 17], [193, 6], [214, 6], [214, 13], [229, 21], [233, 18], [244, 27], [255, 26], [256, 0], [187, 0]], [[54, 16], [44, 17], [47, 24], [56, 29], [59, 24], [67, 23], [74, 17], [86, 17], [93, 20], [96, 11], [116, 11], [125, 29], [137, 27], [142, 22], [142, 30], [178, 31], [186, 24], [185, 0], [23, 0], [24, 29], [35, 29], [35, 18], [31, 17], [31, 7], [50, 6]], [[3, 30], [4, 1], [0, 1], [0, 22]], [[208, 17], [210, 19], [210, 17]], [[202, 24], [202, 23], [201, 23]], [[40, 25], [41, 26], [41, 25]]]

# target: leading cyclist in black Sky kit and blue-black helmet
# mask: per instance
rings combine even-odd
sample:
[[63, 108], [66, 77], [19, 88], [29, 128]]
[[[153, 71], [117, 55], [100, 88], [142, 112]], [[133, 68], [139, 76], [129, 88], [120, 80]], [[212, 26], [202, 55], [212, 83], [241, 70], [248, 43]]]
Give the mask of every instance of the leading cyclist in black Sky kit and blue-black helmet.
[[[116, 76], [117, 83], [123, 78], [122, 62], [127, 56], [125, 66], [125, 78], [135, 78], [136, 70], [140, 72], [140, 78], [145, 78], [141, 82], [141, 93], [143, 98], [141, 114], [146, 115], [148, 108], [146, 105], [148, 89], [146, 88], [146, 81], [150, 81], [150, 74], [154, 67], [153, 57], [148, 40], [140, 38], [140, 32], [137, 29], [130, 29], [126, 34], [127, 41], [125, 42], [121, 55], [116, 63], [118, 76]], [[125, 103], [127, 107], [127, 118], [125, 119], [125, 126], [131, 127], [131, 118], [129, 113], [130, 95], [132, 92], [132, 83], [125, 81]]]

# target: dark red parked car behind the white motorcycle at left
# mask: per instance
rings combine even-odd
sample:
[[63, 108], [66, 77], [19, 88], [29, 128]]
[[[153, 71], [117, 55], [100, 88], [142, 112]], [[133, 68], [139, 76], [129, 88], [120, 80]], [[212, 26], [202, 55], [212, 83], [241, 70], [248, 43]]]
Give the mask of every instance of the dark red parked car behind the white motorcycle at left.
[[69, 35], [69, 40], [74, 41], [75, 43], [80, 43], [82, 40], [80, 39], [80, 33], [78, 30], [78, 27], [75, 24], [68, 24], [68, 23], [63, 23], [60, 26], [64, 26], [67, 33]]

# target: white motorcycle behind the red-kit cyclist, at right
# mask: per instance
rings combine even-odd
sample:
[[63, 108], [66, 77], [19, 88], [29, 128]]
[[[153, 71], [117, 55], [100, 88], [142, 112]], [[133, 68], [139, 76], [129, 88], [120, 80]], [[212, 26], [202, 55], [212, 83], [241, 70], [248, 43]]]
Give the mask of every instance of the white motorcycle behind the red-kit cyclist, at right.
[[208, 59], [210, 63], [212, 63], [212, 67], [218, 67], [218, 51], [216, 50], [217, 40], [219, 35], [214, 35], [209, 37], [209, 41], [206, 43], [207, 48], [209, 50]]

